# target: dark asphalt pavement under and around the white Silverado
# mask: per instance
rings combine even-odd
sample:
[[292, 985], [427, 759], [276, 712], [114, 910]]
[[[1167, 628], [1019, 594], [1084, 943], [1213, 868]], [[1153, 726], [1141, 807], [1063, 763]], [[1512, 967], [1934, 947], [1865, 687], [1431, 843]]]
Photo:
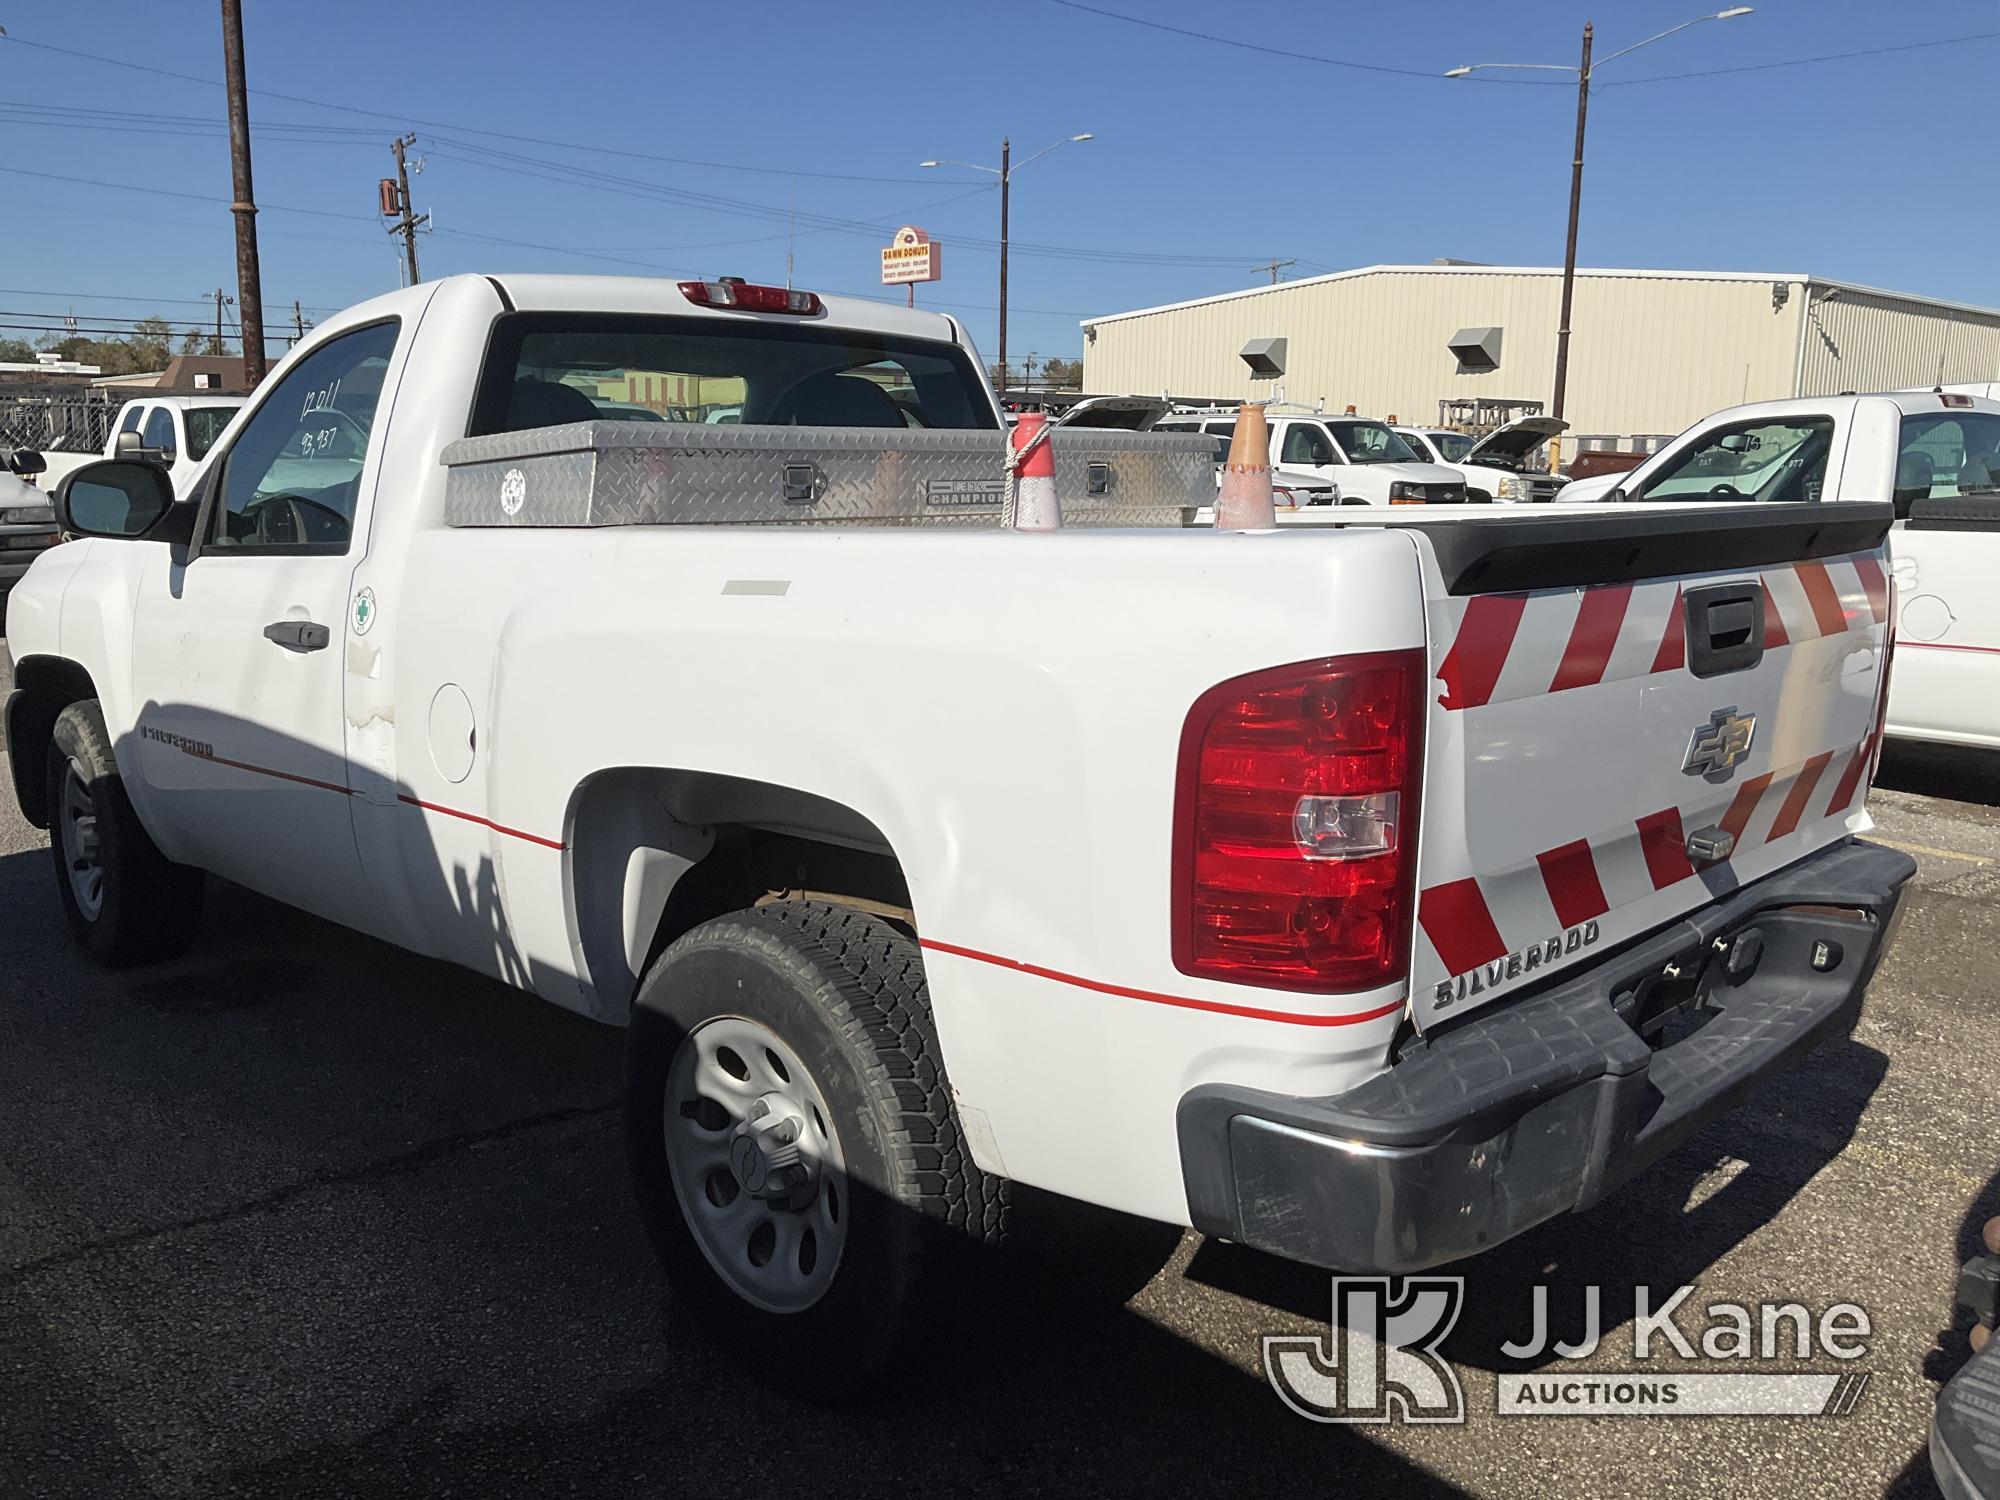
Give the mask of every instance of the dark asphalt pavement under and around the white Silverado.
[[[226, 886], [194, 952], [86, 968], [0, 798], [0, 1496], [1930, 1494], [1966, 1354], [1954, 1272], [2000, 1212], [2000, 760], [1892, 750], [1918, 892], [1860, 1030], [1596, 1210], [1452, 1268], [1454, 1426], [1288, 1412], [1260, 1336], [1328, 1278], [1186, 1236], [1090, 1316], [968, 1280], [874, 1404], [710, 1350], [628, 1206], [622, 1038]], [[1088, 1122], [1080, 1122], [1086, 1130]], [[1088, 1244], [1074, 1246], [1088, 1256]], [[1504, 1418], [1528, 1286], [1866, 1308], [1848, 1416]], [[1716, 1366], [1704, 1366], [1716, 1368]], [[1762, 1368], [1762, 1366], [1760, 1366]]]

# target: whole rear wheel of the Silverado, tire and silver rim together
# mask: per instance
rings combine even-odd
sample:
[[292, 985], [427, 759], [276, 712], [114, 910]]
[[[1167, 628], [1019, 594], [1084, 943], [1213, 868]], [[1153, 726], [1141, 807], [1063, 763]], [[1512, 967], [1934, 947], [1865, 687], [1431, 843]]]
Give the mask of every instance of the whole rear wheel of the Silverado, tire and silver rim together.
[[896, 1352], [954, 1252], [998, 1242], [922, 954], [888, 922], [778, 902], [704, 922], [634, 1004], [626, 1146], [668, 1278], [718, 1340], [818, 1400]]

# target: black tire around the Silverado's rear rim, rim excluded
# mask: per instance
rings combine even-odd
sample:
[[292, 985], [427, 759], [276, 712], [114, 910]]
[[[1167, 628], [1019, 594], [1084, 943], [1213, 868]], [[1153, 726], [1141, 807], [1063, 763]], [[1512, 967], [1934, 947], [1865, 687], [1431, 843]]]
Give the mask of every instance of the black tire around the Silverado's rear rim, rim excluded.
[[[682, 1088], [676, 1054], [698, 1046], [690, 1038], [704, 1024], [738, 1018], [804, 1062], [844, 1156], [838, 1264], [804, 1308], [750, 1300], [734, 1260], [730, 1276], [718, 1270], [724, 1230], [690, 1224], [690, 1212], [704, 1212], [694, 1196], [704, 1184], [684, 1180], [676, 1192], [668, 1130], [706, 1108], [670, 1098]], [[964, 1250], [998, 1244], [1006, 1228], [1010, 1184], [972, 1162], [952, 1108], [922, 952], [882, 918], [844, 906], [732, 912], [660, 954], [634, 1002], [626, 1146], [676, 1294], [736, 1358], [814, 1400], [866, 1388], [938, 1306]], [[734, 1190], [722, 1182], [720, 1192]]]

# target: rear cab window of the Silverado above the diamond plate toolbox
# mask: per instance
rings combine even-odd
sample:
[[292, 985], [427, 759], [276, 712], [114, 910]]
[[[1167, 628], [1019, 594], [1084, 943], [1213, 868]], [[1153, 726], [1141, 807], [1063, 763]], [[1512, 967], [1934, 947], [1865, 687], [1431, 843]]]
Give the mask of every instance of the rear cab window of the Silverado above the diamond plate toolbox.
[[954, 344], [660, 314], [494, 322], [472, 436], [604, 420], [998, 428], [986, 378]]

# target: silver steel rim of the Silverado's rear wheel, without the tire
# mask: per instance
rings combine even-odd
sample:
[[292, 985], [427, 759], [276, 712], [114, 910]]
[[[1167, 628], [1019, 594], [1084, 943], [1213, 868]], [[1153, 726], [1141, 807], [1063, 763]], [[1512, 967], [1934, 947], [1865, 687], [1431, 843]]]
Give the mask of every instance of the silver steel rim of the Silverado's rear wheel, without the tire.
[[744, 1302], [804, 1312], [834, 1284], [848, 1178], [834, 1112], [768, 1026], [716, 1016], [666, 1074], [666, 1162], [694, 1242]]

